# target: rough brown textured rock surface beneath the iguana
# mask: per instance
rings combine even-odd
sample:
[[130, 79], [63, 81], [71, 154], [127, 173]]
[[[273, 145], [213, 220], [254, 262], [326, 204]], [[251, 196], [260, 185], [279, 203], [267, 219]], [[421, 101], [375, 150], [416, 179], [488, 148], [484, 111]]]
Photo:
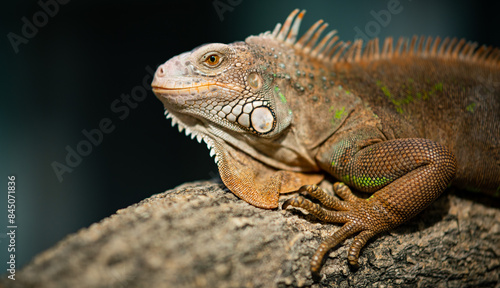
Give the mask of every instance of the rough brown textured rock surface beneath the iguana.
[[313, 282], [310, 257], [339, 226], [298, 209], [252, 207], [221, 184], [190, 183], [66, 237], [0, 286], [500, 287], [500, 209], [488, 201], [447, 192], [370, 241], [358, 270], [344, 246], [332, 250]]

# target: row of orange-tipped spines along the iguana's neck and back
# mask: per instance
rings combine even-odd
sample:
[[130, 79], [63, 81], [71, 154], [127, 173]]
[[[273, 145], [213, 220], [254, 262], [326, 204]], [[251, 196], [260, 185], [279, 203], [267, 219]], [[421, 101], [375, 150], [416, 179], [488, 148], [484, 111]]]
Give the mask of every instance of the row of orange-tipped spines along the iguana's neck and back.
[[[363, 47], [363, 40], [357, 39], [350, 42], [339, 41], [335, 36], [336, 30], [326, 34], [316, 45], [321, 33], [328, 26], [323, 20], [317, 21], [307, 32], [297, 40], [300, 23], [304, 17], [305, 10], [295, 9], [285, 23], [278, 23], [273, 32], [265, 32], [262, 37], [271, 37], [283, 41], [297, 51], [309, 55], [312, 58], [327, 63], [336, 62], [361, 62], [374, 61], [378, 59], [392, 59], [403, 56], [417, 56], [421, 58], [460, 59], [484, 65], [500, 65], [500, 49], [492, 46], [481, 46], [476, 49], [476, 42], [466, 42], [465, 39], [445, 38], [441, 40], [438, 36], [425, 38], [424, 36], [413, 36], [411, 39], [400, 37], [394, 46], [392, 37], [387, 37], [380, 51], [378, 38], [372, 39]], [[298, 15], [297, 15], [298, 14]]]

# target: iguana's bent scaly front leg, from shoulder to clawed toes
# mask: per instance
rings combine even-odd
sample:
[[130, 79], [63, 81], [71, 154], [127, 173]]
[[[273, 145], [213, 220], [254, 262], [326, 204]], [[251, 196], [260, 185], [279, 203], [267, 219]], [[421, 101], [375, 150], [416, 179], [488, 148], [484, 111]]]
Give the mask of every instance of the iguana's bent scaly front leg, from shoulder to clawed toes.
[[[370, 142], [378, 143], [365, 146]], [[353, 188], [375, 193], [368, 199], [358, 198], [347, 186], [336, 183], [335, 192], [344, 199], [340, 201], [316, 186], [305, 186], [301, 190], [320, 200], [323, 206], [301, 196], [284, 203], [283, 208], [300, 207], [320, 220], [345, 223], [318, 248], [311, 261], [313, 274], [319, 272], [321, 261], [331, 248], [359, 233], [348, 253], [349, 263], [357, 265], [359, 251], [371, 237], [422, 211], [444, 191], [456, 172], [453, 154], [428, 139], [379, 142], [343, 137], [333, 148], [327, 162], [332, 174]]]

